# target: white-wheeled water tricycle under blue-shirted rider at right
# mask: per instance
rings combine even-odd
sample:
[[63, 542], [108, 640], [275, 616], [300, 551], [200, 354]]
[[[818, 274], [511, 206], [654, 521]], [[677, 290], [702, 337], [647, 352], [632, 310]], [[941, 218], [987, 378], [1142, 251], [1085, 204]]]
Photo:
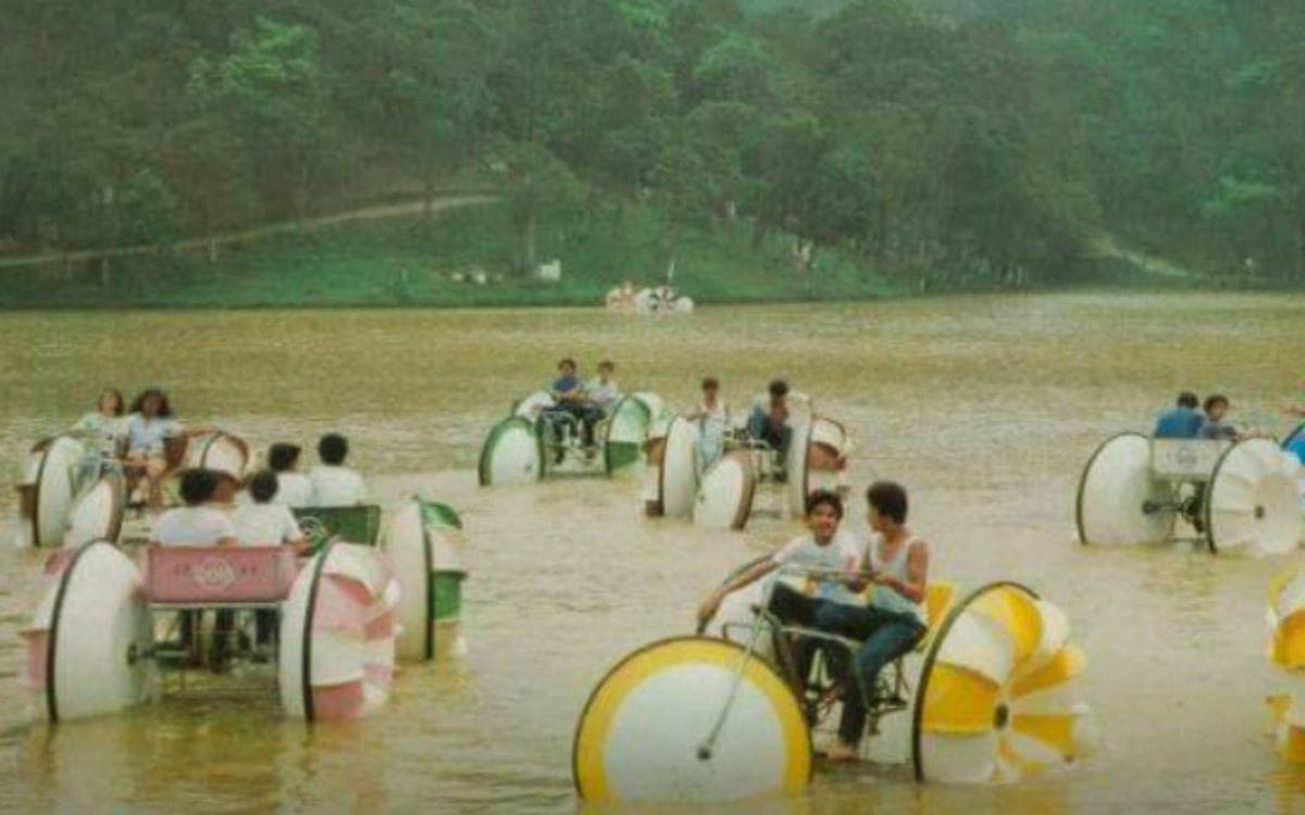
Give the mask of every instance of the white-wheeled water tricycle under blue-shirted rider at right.
[[1165, 542], [1185, 518], [1211, 552], [1283, 554], [1301, 537], [1300, 462], [1263, 438], [1120, 433], [1088, 459], [1075, 522], [1084, 544]]

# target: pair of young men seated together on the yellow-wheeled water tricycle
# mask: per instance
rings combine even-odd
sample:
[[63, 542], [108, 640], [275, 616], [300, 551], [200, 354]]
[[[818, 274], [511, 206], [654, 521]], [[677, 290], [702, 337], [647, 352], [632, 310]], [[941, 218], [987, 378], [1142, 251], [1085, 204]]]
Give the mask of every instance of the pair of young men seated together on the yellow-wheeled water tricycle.
[[[835, 694], [843, 713], [838, 738], [829, 746], [830, 760], [860, 756], [867, 704], [877, 702], [880, 672], [907, 653], [928, 630], [924, 601], [928, 591], [929, 544], [907, 526], [906, 489], [893, 481], [876, 481], [865, 492], [868, 539], [842, 526], [843, 499], [831, 490], [816, 490], [806, 498], [806, 532], [795, 537], [767, 559], [746, 569], [711, 592], [698, 608], [705, 625], [726, 595], [783, 570], [806, 576], [814, 591], [805, 593], [776, 580], [770, 587], [766, 610], [784, 626], [813, 629], [860, 643], [851, 664], [843, 652], [825, 640], [793, 636], [797, 677], [805, 682], [817, 651], [837, 677]], [[780, 571], [780, 574], [783, 574]], [[868, 591], [867, 591], [868, 589]]]

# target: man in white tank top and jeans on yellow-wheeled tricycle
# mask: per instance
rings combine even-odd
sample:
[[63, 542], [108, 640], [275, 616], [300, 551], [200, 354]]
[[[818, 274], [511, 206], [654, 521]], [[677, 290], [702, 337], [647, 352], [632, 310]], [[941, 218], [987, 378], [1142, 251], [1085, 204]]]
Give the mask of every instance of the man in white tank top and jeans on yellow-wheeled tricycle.
[[851, 587], [872, 582], [869, 605], [827, 604], [816, 612], [817, 629], [864, 640], [843, 679], [843, 717], [838, 739], [827, 752], [834, 762], [859, 758], [865, 700], [874, 695], [880, 670], [911, 651], [928, 629], [924, 599], [929, 544], [906, 526], [906, 490], [891, 481], [877, 481], [865, 490], [865, 499], [876, 535], [865, 549], [860, 571], [872, 576], [853, 580]]

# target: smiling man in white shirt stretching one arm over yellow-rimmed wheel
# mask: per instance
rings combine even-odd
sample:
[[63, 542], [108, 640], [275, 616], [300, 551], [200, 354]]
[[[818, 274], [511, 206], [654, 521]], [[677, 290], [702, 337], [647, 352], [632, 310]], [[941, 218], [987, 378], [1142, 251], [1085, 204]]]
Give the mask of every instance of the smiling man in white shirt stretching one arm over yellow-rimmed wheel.
[[[859, 605], [860, 600], [847, 583], [855, 576], [855, 570], [865, 554], [865, 545], [856, 535], [839, 529], [842, 520], [843, 499], [838, 493], [814, 490], [806, 498], [808, 532], [788, 541], [769, 559], [744, 570], [711, 592], [698, 608], [698, 622], [705, 625], [715, 617], [726, 595], [782, 567], [799, 572], [795, 576], [809, 575], [816, 582], [812, 595], [803, 593], [783, 582], [774, 584], [766, 608], [784, 625], [813, 626], [817, 614], [826, 605]], [[793, 652], [799, 675], [805, 677], [814, 656], [813, 644], [809, 640], [800, 640], [793, 644]]]

